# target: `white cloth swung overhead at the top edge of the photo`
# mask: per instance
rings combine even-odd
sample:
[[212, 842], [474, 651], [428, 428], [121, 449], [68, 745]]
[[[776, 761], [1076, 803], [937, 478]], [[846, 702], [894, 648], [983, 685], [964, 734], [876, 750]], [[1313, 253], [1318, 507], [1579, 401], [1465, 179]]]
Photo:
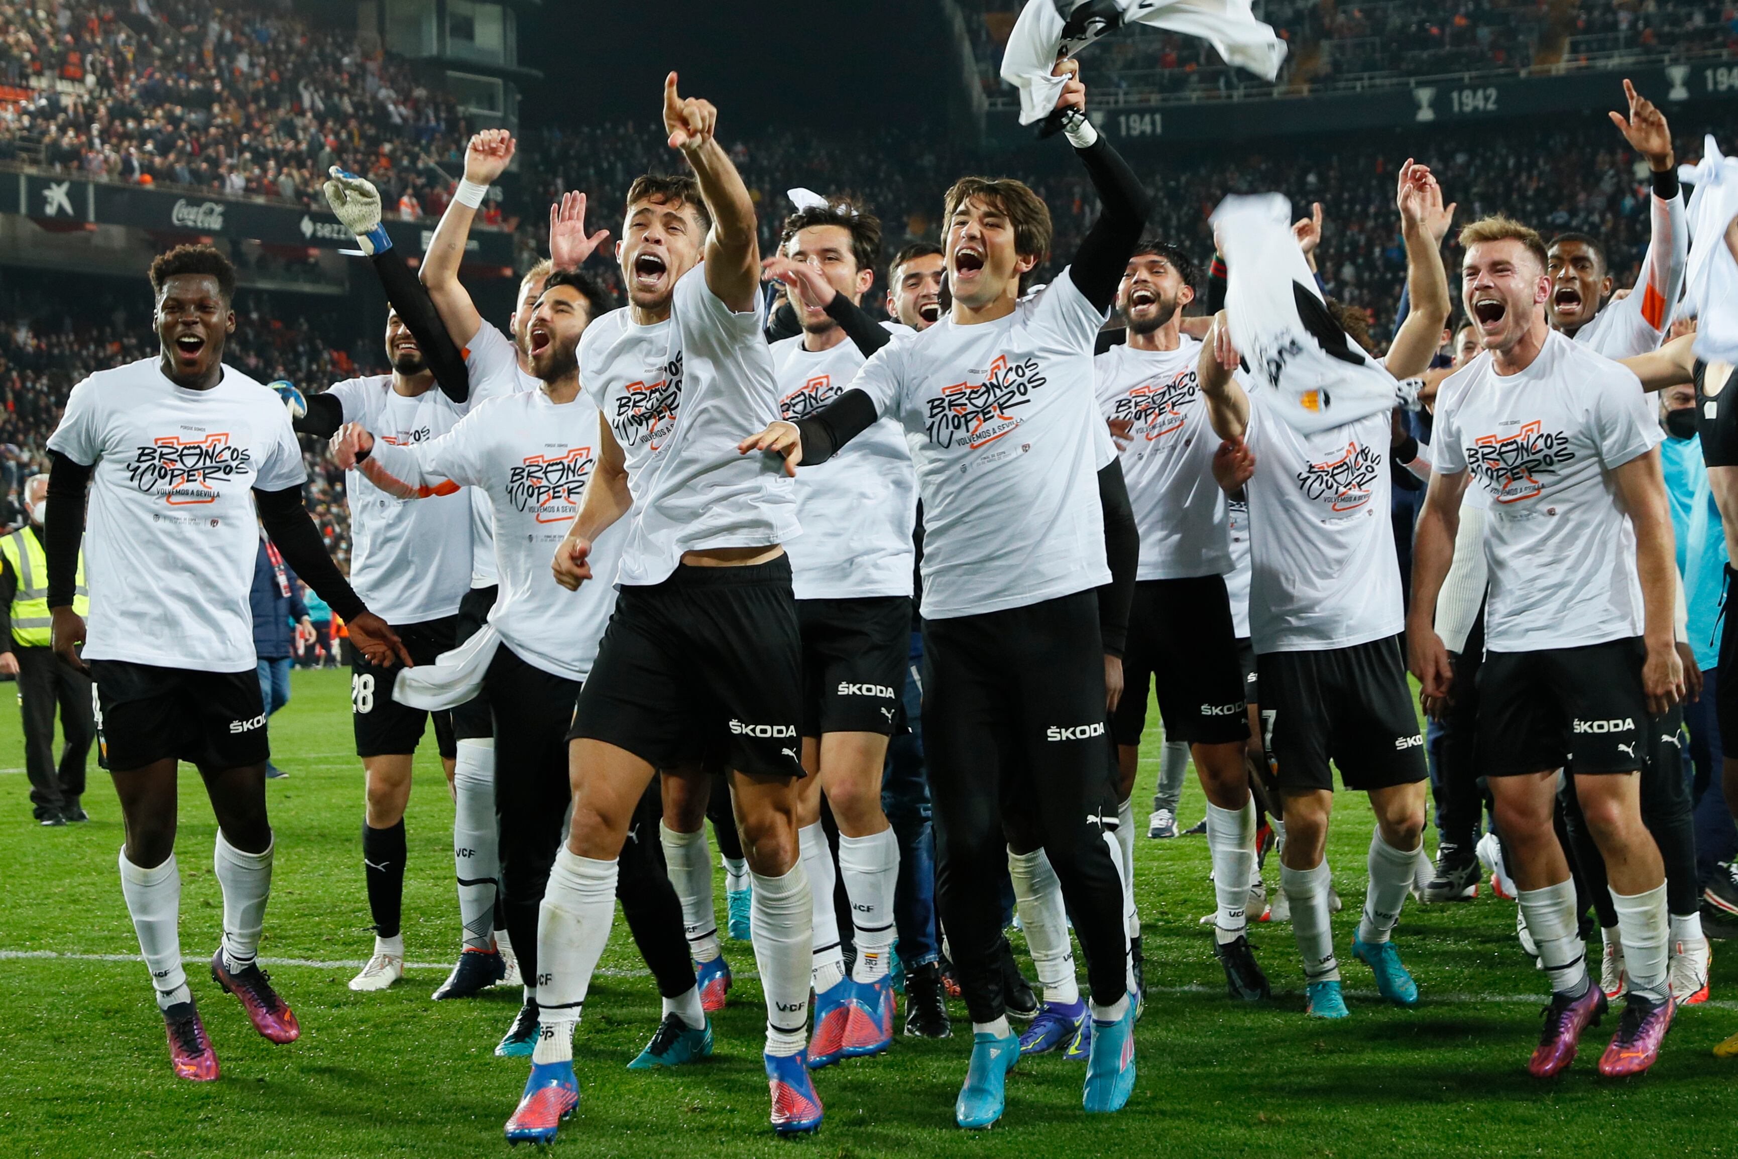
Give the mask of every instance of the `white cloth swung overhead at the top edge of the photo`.
[[1039, 122], [1057, 106], [1065, 78], [1050, 73], [1058, 56], [1074, 56], [1124, 24], [1201, 36], [1227, 64], [1262, 80], [1277, 76], [1286, 59], [1286, 42], [1255, 19], [1250, 0], [1027, 0], [1001, 56], [1001, 78], [1020, 90], [1020, 123]]

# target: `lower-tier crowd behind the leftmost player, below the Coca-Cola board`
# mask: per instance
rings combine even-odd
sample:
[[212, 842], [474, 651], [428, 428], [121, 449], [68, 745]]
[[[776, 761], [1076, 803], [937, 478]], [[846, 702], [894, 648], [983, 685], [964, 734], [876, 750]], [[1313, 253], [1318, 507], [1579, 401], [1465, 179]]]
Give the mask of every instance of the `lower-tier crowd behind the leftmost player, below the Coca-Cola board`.
[[[334, 349], [342, 334], [335, 313], [309, 311], [309, 299], [247, 292], [236, 295], [236, 330], [224, 361], [261, 382], [287, 379], [304, 389], [358, 374], [379, 374], [377, 348], [358, 342]], [[61, 419], [66, 394], [94, 370], [155, 354], [156, 335], [141, 287], [106, 278], [31, 276], [30, 288], [10, 271], [0, 280], [0, 520], [21, 516], [21, 483], [45, 471], [45, 443]], [[308, 509], [341, 566], [349, 566], [349, 516], [344, 473], [323, 443], [302, 440], [308, 459]]]

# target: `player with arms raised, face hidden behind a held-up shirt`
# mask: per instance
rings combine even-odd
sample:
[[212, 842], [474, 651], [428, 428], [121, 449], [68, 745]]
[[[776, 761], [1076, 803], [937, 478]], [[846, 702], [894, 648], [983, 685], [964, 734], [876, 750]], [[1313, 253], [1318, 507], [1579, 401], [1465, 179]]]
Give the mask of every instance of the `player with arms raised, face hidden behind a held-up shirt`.
[[[1378, 365], [1401, 379], [1423, 370], [1448, 320], [1437, 252], [1437, 228], [1446, 229], [1448, 215], [1434, 177], [1411, 162], [1401, 167], [1397, 205], [1413, 313]], [[1349, 342], [1345, 354], [1359, 358], [1363, 351]], [[1234, 377], [1237, 363], [1220, 315], [1201, 348], [1197, 381], [1215, 433], [1234, 443], [1244, 457], [1239, 474], [1248, 476], [1250, 634], [1267, 754], [1283, 801], [1281, 886], [1304, 956], [1307, 1013], [1349, 1013], [1333, 954], [1324, 858], [1333, 810], [1330, 761], [1347, 789], [1368, 792], [1376, 815], [1370, 890], [1352, 954], [1375, 971], [1383, 997], [1411, 1006], [1418, 987], [1390, 933], [1420, 850], [1425, 766], [1401, 657], [1404, 610], [1387, 523], [1392, 422], [1376, 412], [1305, 434], [1283, 419], [1270, 401], [1272, 387], [1243, 387]]]

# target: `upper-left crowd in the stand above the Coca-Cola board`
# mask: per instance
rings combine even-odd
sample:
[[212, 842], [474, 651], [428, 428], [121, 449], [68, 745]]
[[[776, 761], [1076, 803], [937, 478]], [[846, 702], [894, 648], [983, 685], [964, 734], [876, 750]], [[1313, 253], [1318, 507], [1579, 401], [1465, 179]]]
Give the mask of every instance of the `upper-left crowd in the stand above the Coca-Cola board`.
[[0, 0], [0, 160], [315, 207], [344, 165], [438, 215], [469, 127], [356, 40], [287, 0]]

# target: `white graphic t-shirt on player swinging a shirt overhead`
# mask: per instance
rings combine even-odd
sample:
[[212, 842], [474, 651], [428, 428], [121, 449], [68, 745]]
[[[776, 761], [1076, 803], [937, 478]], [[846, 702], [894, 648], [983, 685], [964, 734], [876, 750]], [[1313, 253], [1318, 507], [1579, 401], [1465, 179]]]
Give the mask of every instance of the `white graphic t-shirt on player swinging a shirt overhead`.
[[996, 321], [942, 318], [852, 382], [895, 415], [923, 497], [923, 615], [1020, 608], [1111, 582], [1093, 339], [1069, 271]]

